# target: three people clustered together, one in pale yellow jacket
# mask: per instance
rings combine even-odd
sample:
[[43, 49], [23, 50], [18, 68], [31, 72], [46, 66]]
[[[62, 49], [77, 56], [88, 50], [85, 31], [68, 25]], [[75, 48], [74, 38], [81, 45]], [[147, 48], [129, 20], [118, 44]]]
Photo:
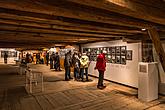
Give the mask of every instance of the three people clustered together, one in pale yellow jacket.
[[83, 53], [75, 52], [73, 56], [71, 56], [71, 51], [65, 54], [64, 67], [65, 67], [65, 80], [68, 81], [72, 79], [70, 75], [70, 68], [74, 68], [74, 79], [77, 81], [84, 81], [84, 74], [86, 75], [86, 81], [88, 79], [88, 66], [89, 66], [89, 58]]

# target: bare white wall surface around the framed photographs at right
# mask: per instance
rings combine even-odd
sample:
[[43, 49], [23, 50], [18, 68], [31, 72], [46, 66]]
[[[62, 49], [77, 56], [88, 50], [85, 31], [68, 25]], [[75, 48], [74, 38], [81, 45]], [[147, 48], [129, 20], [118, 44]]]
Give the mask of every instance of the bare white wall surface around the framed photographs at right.
[[[112, 46], [126, 46], [127, 50], [133, 50], [132, 60], [127, 60], [126, 65], [107, 63], [105, 71], [105, 79], [138, 87], [138, 63], [141, 61], [141, 44], [118, 41], [98, 42], [82, 45], [83, 48], [96, 48], [96, 47], [112, 47]], [[94, 61], [90, 63], [89, 74], [98, 76]]]

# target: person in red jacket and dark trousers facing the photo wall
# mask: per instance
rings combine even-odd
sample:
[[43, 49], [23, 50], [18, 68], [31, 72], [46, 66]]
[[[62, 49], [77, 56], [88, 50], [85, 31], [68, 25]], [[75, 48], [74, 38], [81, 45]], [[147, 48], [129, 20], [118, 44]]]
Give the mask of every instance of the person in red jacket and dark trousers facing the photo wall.
[[105, 68], [106, 68], [105, 55], [103, 51], [101, 51], [101, 53], [97, 57], [97, 62], [96, 62], [96, 67], [95, 67], [95, 69], [98, 69], [99, 71], [99, 80], [98, 80], [98, 85], [97, 85], [97, 88], [99, 89], [104, 89], [106, 87], [103, 85]]

